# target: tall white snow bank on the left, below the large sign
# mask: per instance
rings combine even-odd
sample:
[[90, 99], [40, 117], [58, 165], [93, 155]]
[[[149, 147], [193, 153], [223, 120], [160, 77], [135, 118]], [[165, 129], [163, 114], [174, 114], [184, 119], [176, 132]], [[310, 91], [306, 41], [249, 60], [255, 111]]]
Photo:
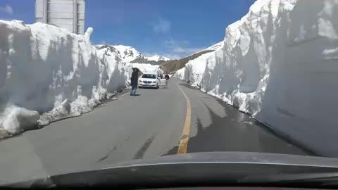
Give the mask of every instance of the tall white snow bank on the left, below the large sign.
[[92, 32], [0, 20], [1, 128], [17, 133], [80, 115], [125, 85], [123, 65], [96, 54]]

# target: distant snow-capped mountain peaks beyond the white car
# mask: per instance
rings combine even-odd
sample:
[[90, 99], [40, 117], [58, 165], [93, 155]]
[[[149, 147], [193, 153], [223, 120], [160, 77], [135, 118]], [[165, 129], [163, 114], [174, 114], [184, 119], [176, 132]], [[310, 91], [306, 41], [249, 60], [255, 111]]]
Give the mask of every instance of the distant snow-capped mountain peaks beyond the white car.
[[158, 61], [169, 61], [169, 58], [163, 56], [143, 56], [142, 53], [134, 49], [132, 46], [123, 45], [96, 45], [96, 49], [104, 51], [106, 55], [111, 56], [111, 53], [116, 53], [118, 57], [125, 63], [157, 63]]

